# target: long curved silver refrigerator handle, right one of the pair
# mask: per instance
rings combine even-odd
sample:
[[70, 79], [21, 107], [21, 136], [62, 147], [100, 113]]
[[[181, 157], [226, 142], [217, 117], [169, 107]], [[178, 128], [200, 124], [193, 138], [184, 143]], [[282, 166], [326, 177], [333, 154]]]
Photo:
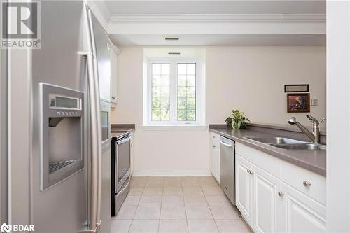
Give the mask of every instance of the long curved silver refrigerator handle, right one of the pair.
[[[99, 227], [101, 225], [101, 199], [102, 199], [102, 130], [101, 130], [101, 106], [99, 101], [99, 78], [98, 78], [98, 67], [97, 67], [97, 53], [96, 53], [96, 43], [94, 41], [94, 28], [92, 26], [92, 16], [91, 16], [91, 10], [88, 9], [88, 19], [89, 19], [89, 27], [90, 27], [90, 40], [91, 40], [91, 49], [92, 49], [92, 59], [90, 59], [90, 67], [92, 65], [92, 72], [93, 76], [92, 83], [93, 83], [93, 98], [95, 100], [94, 103], [94, 111], [92, 111], [92, 115], [95, 115], [96, 121], [94, 122], [96, 134], [94, 137], [97, 136], [97, 139], [94, 141], [93, 145], [95, 148], [97, 148], [97, 205], [96, 205], [96, 227]], [[92, 62], [92, 64], [91, 64]]]

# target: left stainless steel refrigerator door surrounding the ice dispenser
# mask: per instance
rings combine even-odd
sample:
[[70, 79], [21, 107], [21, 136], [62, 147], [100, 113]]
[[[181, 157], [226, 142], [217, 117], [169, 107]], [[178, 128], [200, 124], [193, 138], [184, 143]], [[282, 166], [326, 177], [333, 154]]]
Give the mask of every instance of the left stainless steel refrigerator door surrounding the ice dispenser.
[[[32, 51], [33, 151], [31, 153], [31, 220], [36, 233], [80, 232], [88, 227], [87, 134], [82, 134], [83, 168], [41, 190], [42, 122], [40, 83], [83, 92], [87, 98], [84, 52], [86, 8], [83, 1], [41, 1], [41, 49]], [[53, 93], [55, 94], [55, 93]], [[85, 115], [88, 101], [85, 101]], [[45, 122], [43, 122], [45, 123]], [[48, 122], [47, 122], [48, 123]], [[83, 129], [87, 132], [87, 122]], [[70, 134], [69, 128], [66, 136]], [[62, 136], [64, 137], [64, 136]], [[59, 140], [59, 139], [57, 139]], [[69, 155], [75, 157], [76, 155]], [[23, 181], [27, 182], [27, 181]]]

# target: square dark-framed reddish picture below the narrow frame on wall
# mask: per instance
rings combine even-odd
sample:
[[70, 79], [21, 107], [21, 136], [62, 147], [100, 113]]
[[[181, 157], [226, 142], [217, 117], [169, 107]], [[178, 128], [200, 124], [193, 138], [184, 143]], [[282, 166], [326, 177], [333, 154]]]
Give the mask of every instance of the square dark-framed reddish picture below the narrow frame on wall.
[[309, 113], [310, 112], [310, 94], [309, 93], [287, 94], [287, 112], [288, 113]]

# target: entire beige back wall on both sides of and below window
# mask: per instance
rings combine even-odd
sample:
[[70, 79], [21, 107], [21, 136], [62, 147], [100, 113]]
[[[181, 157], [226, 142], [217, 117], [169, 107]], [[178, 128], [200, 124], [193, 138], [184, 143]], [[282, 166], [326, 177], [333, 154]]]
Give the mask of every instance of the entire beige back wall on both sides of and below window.
[[[134, 169], [146, 174], [179, 171], [206, 174], [209, 170], [207, 130], [143, 129], [143, 48], [121, 47], [118, 57], [118, 106], [112, 123], [135, 123]], [[206, 122], [223, 123], [232, 108], [245, 111], [253, 122], [284, 124], [284, 84], [309, 83], [319, 106], [311, 115], [325, 116], [324, 47], [208, 47], [206, 52]], [[141, 173], [139, 173], [141, 174]]]

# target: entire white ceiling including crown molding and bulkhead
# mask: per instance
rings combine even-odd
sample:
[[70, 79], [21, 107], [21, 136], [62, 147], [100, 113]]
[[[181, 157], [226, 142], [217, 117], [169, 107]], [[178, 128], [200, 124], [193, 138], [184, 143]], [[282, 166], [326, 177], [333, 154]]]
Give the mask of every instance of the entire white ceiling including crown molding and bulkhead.
[[325, 0], [104, 0], [103, 11], [117, 45], [325, 45]]

